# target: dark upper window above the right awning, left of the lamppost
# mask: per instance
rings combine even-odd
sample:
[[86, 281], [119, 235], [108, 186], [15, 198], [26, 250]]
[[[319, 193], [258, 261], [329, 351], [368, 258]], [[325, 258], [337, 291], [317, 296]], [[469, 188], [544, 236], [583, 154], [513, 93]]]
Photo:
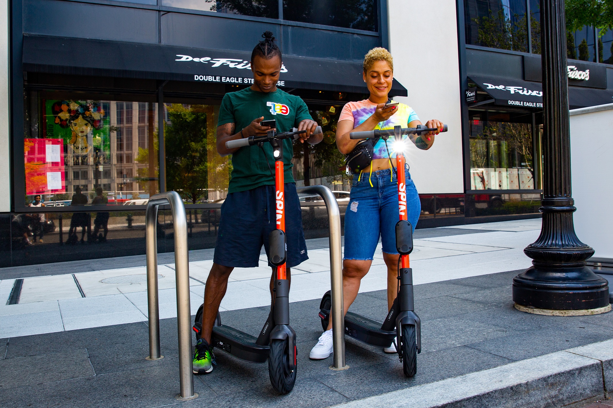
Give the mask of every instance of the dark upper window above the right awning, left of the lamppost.
[[528, 51], [525, 0], [466, 0], [465, 24], [467, 44]]

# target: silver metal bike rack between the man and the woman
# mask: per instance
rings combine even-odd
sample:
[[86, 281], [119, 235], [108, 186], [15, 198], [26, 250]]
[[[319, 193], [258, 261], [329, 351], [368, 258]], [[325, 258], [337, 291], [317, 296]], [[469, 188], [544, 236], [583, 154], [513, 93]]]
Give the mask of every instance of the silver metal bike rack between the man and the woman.
[[326, 203], [330, 228], [330, 294], [332, 306], [332, 347], [334, 364], [330, 368], [343, 370], [345, 365], [345, 314], [343, 313], [343, 258], [341, 256], [341, 215], [337, 198], [323, 185], [311, 185], [296, 189], [299, 193], [319, 195]]

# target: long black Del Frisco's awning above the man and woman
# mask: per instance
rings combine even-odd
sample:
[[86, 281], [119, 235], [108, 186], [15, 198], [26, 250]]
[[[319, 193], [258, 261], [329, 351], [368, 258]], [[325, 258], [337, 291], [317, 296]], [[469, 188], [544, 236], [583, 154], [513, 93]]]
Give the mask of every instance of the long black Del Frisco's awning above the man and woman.
[[[154, 80], [249, 84], [251, 53], [174, 45], [24, 35], [23, 69], [30, 72]], [[283, 56], [281, 89], [368, 93], [362, 64]], [[394, 80], [392, 92], [406, 96]]]

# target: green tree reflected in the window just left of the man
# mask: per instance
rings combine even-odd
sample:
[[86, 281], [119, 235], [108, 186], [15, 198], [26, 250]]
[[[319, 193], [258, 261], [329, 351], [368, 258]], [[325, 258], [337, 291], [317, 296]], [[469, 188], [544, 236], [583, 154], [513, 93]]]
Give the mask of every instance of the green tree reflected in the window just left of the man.
[[207, 198], [207, 106], [168, 107], [170, 124], [164, 127], [166, 185], [196, 204]]

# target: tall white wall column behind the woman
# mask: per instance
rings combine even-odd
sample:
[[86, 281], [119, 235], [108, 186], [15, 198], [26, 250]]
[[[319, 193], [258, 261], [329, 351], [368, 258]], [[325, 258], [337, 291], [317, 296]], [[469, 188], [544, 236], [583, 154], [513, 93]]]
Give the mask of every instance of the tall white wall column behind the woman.
[[430, 150], [411, 144], [407, 161], [419, 193], [463, 193], [462, 116], [454, 0], [388, 0], [394, 78], [408, 89], [398, 102], [425, 124], [439, 119], [449, 132]]

